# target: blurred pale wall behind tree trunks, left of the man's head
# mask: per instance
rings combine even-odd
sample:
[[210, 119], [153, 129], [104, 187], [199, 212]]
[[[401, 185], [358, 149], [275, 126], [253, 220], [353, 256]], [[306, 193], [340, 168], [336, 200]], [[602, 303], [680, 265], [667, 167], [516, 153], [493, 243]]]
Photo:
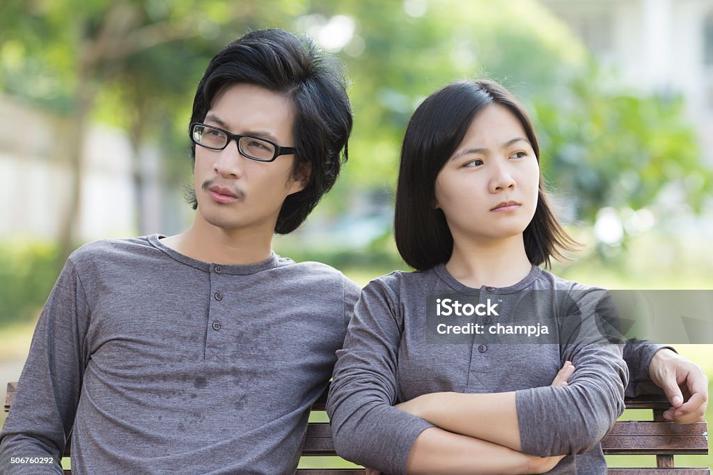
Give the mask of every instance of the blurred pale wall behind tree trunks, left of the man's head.
[[[67, 158], [69, 121], [0, 96], [0, 239], [59, 236], [73, 186]], [[166, 216], [176, 213], [163, 210], [159, 158], [155, 148], [140, 151], [144, 223], [139, 226], [128, 137], [116, 128], [92, 123], [83, 146], [83, 198], [76, 238], [86, 242], [135, 235], [139, 227], [146, 233], [162, 231]], [[184, 203], [176, 205], [181, 204], [188, 208]]]

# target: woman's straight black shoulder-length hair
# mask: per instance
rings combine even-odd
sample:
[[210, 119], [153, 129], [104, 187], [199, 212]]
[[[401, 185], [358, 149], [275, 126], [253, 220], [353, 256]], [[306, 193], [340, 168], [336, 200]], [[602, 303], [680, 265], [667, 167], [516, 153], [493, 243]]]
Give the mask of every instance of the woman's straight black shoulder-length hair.
[[[430, 269], [451, 258], [453, 235], [443, 211], [433, 205], [436, 177], [463, 141], [476, 115], [491, 104], [507, 108], [518, 118], [540, 160], [540, 146], [528, 113], [498, 83], [457, 81], [426, 98], [406, 128], [394, 214], [396, 247], [414, 269]], [[550, 210], [541, 174], [537, 208], [523, 239], [525, 252], [534, 265], [544, 262], [549, 266], [550, 257], [563, 259], [563, 251], [577, 246]]]

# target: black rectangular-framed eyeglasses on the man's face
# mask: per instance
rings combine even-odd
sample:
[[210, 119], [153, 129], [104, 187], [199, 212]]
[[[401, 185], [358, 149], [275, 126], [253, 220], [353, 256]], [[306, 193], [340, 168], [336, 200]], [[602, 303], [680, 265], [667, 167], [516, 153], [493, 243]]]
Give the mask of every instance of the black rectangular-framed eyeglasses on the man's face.
[[279, 155], [291, 155], [297, 153], [297, 149], [292, 147], [280, 147], [277, 143], [268, 141], [265, 138], [253, 136], [241, 136], [237, 133], [230, 133], [222, 128], [206, 126], [205, 123], [190, 124], [190, 140], [195, 145], [208, 148], [210, 150], [223, 150], [230, 141], [237, 143], [237, 149], [242, 155], [251, 160], [259, 162], [272, 162]]

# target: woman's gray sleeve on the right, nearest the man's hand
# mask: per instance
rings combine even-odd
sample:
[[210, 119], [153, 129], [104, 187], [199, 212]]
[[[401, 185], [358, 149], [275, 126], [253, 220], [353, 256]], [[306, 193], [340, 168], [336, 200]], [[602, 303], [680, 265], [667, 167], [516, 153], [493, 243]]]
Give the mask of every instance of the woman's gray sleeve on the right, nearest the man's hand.
[[539, 456], [582, 454], [592, 449], [624, 411], [627, 367], [621, 344], [607, 338], [615, 318], [608, 292], [570, 295], [560, 317], [562, 364], [575, 372], [565, 387], [515, 393], [523, 452]]

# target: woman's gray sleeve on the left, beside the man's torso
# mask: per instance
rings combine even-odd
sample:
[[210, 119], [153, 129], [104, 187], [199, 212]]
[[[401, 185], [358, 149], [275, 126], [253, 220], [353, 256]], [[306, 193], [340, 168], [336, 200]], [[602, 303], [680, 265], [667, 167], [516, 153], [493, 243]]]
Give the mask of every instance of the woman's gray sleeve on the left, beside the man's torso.
[[406, 474], [411, 446], [434, 426], [394, 407], [403, 328], [397, 300], [379, 280], [361, 291], [344, 348], [337, 352], [327, 413], [340, 456], [389, 474]]

